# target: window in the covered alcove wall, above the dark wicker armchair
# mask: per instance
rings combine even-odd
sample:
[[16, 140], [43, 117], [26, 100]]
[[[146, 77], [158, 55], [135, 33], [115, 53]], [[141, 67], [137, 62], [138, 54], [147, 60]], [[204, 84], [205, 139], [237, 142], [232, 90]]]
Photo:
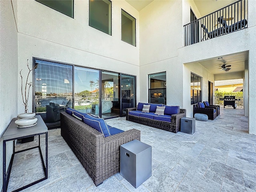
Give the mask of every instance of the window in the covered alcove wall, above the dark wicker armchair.
[[190, 80], [190, 98], [191, 104], [197, 104], [198, 102], [202, 102], [202, 77], [191, 73], [191, 80]]

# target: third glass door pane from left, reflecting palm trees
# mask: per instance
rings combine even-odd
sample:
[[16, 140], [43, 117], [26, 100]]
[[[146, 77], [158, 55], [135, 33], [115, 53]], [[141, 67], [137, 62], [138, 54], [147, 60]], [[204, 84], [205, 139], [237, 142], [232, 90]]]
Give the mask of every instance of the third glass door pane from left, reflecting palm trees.
[[101, 76], [101, 113], [102, 118], [120, 116], [120, 75], [102, 71]]

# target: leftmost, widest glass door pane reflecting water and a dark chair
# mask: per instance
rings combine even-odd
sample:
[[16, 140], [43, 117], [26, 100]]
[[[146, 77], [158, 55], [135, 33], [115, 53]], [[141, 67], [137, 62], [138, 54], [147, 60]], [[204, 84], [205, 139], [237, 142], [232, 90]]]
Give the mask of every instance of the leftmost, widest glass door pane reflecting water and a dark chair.
[[60, 126], [60, 112], [72, 106], [73, 67], [34, 60], [34, 110], [48, 128]]

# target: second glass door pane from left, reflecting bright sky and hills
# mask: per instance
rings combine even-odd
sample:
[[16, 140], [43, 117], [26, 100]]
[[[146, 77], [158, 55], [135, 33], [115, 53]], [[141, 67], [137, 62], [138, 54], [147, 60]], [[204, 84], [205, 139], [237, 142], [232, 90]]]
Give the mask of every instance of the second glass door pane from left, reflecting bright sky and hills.
[[99, 70], [75, 66], [75, 110], [99, 116], [99, 82]]

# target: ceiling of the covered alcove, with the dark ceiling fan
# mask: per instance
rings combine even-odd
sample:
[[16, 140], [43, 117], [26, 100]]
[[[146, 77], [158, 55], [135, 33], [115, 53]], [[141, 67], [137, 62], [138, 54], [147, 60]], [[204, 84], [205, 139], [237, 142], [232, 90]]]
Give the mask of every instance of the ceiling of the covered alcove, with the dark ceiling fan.
[[[218, 60], [220, 57], [222, 57], [222, 60]], [[225, 73], [225, 71], [221, 68], [223, 64], [231, 65], [231, 67], [229, 67], [231, 68], [229, 72], [240, 72], [244, 71], [244, 62], [248, 60], [248, 51], [220, 57], [202, 60], [199, 61], [199, 63], [208, 69], [208, 71], [212, 74]]]

